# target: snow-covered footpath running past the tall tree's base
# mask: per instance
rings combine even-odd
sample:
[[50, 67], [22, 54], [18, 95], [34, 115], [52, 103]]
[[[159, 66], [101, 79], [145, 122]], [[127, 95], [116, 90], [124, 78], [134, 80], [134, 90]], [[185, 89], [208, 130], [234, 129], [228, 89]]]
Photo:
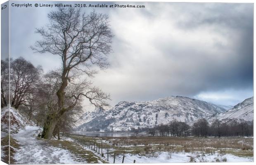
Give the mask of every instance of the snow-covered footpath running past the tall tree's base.
[[75, 156], [68, 150], [51, 146], [45, 140], [36, 139], [39, 129], [35, 126], [26, 126], [25, 130], [12, 135], [20, 144], [20, 148], [14, 154], [15, 164], [81, 163], [76, 162]]

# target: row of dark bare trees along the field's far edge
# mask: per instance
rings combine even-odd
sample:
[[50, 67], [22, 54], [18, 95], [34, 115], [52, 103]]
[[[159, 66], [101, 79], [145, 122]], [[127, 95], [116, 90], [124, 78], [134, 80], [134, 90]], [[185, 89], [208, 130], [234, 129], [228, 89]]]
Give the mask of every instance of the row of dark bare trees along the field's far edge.
[[253, 122], [245, 120], [230, 120], [221, 122], [216, 119], [209, 125], [208, 121], [203, 118], [198, 120], [192, 126], [185, 122], [177, 120], [171, 121], [169, 124], [156, 125], [149, 128], [150, 136], [166, 136], [166, 137], [239, 137], [253, 136]]

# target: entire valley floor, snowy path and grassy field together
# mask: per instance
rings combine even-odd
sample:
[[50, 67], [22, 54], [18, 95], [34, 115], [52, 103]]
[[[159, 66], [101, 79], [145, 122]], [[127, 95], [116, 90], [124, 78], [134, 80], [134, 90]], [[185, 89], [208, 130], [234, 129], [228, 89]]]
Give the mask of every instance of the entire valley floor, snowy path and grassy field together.
[[[70, 135], [62, 140], [45, 140], [37, 137], [39, 130], [39, 127], [26, 126], [24, 130], [12, 134], [19, 144], [12, 155], [12, 164], [113, 163], [114, 154], [115, 163], [122, 163], [123, 156], [124, 163], [133, 163], [134, 160], [136, 163], [254, 161], [253, 138], [94, 138]], [[88, 147], [85, 141], [102, 145], [103, 155], [101, 150]], [[216, 144], [217, 141], [220, 144]], [[195, 144], [197, 148], [193, 146]]]

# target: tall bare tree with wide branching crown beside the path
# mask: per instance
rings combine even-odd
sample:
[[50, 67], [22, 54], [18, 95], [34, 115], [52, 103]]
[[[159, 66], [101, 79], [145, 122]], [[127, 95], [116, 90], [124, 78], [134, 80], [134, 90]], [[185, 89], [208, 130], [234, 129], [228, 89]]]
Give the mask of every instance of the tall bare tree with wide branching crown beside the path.
[[[57, 90], [57, 109], [55, 113], [47, 116], [42, 137], [49, 139], [64, 113], [76, 106], [81, 96], [86, 97], [95, 106], [104, 106], [104, 100], [109, 99], [98, 88], [76, 93], [71, 96], [66, 95], [68, 84], [76, 83], [72, 78], [74, 72], [82, 72], [92, 77], [95, 70], [92, 65], [97, 65], [100, 69], [108, 66], [106, 62], [107, 54], [111, 51], [112, 33], [109, 28], [108, 16], [91, 12], [88, 15], [81, 14], [79, 9], [59, 8], [48, 14], [50, 24], [46, 28], [38, 28], [43, 40], [37, 41], [35, 47], [31, 47], [36, 52], [57, 55], [61, 58], [61, 84]], [[66, 105], [65, 99], [73, 99], [72, 105]]]

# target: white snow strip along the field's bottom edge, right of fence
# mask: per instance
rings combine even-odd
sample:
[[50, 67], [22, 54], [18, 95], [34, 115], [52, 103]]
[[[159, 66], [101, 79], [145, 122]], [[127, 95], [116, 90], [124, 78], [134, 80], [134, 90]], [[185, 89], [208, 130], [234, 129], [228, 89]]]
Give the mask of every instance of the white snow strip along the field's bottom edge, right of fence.
[[[74, 141], [79, 144], [77, 141], [67, 138], [66, 140]], [[100, 142], [100, 141], [97, 141]], [[104, 141], [105, 142], [105, 141]], [[81, 144], [79, 144], [81, 145]], [[95, 152], [90, 147], [81, 145], [84, 149], [94, 152], [95, 155], [101, 156], [101, 154]], [[113, 148], [109, 148], [109, 153], [114, 151]], [[101, 149], [100, 149], [101, 153]], [[101, 157], [103, 160], [107, 161], [107, 149], [103, 148], [102, 153], [104, 157]], [[187, 163], [187, 162], [253, 162], [253, 157], [239, 157], [232, 154], [223, 154], [219, 152], [212, 152], [210, 154], [202, 152], [153, 152], [146, 155], [140, 154], [124, 154], [124, 163], [133, 163], [135, 160], [136, 163]], [[123, 154], [117, 155], [115, 158], [115, 163], [122, 163]], [[109, 154], [109, 163], [113, 163], [114, 156]]]

